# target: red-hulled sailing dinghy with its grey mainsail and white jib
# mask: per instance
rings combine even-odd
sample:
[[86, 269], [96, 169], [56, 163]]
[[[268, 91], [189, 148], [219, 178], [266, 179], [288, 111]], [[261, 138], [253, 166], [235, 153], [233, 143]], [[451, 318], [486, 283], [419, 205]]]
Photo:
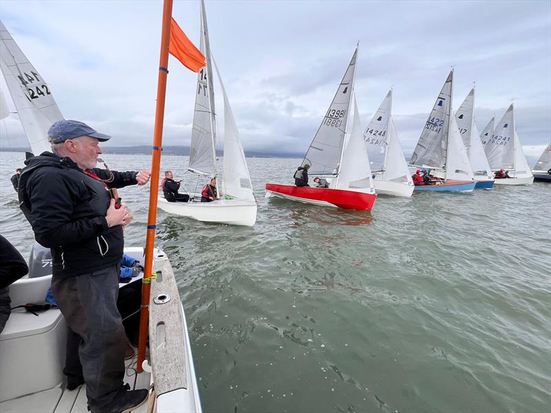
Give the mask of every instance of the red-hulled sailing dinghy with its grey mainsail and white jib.
[[311, 176], [327, 177], [329, 188], [266, 184], [266, 196], [342, 209], [369, 210], [377, 198], [355, 107], [353, 127], [346, 140], [354, 92], [358, 48], [346, 68], [337, 93], [304, 156]]

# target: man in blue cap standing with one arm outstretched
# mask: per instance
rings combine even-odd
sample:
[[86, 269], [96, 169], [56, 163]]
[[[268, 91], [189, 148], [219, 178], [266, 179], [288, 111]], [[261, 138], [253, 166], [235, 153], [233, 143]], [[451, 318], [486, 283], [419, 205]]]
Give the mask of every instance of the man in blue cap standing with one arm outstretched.
[[52, 250], [54, 297], [82, 337], [88, 406], [121, 412], [144, 403], [148, 392], [123, 387], [126, 337], [116, 300], [129, 213], [109, 189], [146, 184], [151, 174], [96, 169], [98, 142], [110, 136], [76, 120], [54, 123], [48, 139], [53, 153], [25, 161], [19, 203], [36, 240]]

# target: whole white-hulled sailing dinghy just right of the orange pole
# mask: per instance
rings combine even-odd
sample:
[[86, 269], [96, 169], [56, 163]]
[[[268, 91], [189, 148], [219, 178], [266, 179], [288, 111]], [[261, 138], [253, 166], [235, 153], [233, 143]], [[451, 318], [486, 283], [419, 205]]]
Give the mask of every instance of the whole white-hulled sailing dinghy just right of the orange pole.
[[[218, 177], [216, 164], [216, 110], [214, 106], [213, 67], [207, 28], [205, 4], [201, 7], [200, 51], [205, 54], [207, 65], [200, 70], [197, 79], [194, 125], [191, 132], [189, 171], [198, 176]], [[158, 198], [160, 209], [168, 213], [192, 218], [202, 222], [217, 222], [252, 226], [256, 222], [256, 200], [253, 195], [251, 177], [245, 160], [245, 152], [231, 112], [222, 78], [216, 68], [224, 96], [224, 158], [222, 166], [222, 196], [217, 194], [212, 202], [200, 202], [200, 193], [192, 194], [190, 202], [168, 202]], [[220, 188], [220, 186], [218, 187]]]

